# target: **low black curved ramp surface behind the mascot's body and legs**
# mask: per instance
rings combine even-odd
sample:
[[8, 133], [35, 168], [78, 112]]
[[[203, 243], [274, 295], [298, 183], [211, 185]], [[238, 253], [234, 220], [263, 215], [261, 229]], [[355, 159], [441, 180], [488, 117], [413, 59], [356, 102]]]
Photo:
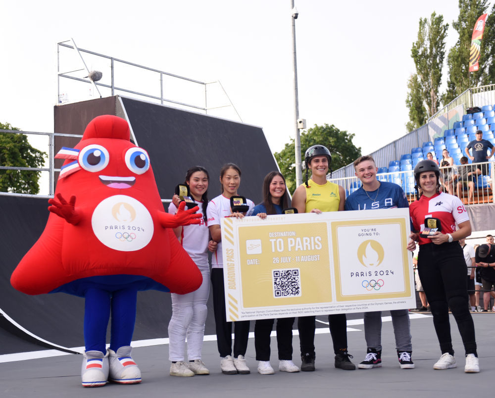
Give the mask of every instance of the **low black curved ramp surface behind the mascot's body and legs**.
[[[47, 207], [46, 198], [0, 196], [0, 308], [15, 323], [41, 339], [62, 347], [83, 347], [83, 298], [64, 293], [29, 296], [10, 285], [16, 265], [43, 232], [49, 213]], [[168, 337], [171, 308], [169, 293], [139, 292], [133, 340]], [[206, 321], [205, 332], [214, 334], [211, 298], [208, 311], [211, 316]], [[17, 344], [19, 339], [34, 341], [5, 317], [1, 316], [0, 320], [0, 354], [24, 350], [23, 344]]]

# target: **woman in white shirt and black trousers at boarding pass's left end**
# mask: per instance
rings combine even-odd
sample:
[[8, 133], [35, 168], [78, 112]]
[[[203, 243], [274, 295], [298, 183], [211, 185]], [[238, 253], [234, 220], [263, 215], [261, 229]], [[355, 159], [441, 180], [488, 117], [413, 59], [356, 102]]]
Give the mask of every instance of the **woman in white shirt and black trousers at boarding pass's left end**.
[[[211, 258], [211, 286], [213, 288], [213, 310], [215, 313], [215, 328], [218, 352], [220, 353], [220, 368], [223, 374], [248, 374], [245, 355], [249, 337], [249, 321], [234, 322], [234, 357], [232, 357], [232, 322], [227, 322], [225, 315], [225, 289], [222, 258], [222, 231], [220, 220], [223, 217], [242, 218], [243, 213], [232, 212], [231, 199], [238, 196], [237, 190], [241, 185], [241, 169], [234, 163], [227, 163], [220, 169], [220, 184], [222, 194], [212, 199], [206, 209], [208, 229], [211, 239], [218, 243]], [[247, 199], [249, 212], [254, 203]]]

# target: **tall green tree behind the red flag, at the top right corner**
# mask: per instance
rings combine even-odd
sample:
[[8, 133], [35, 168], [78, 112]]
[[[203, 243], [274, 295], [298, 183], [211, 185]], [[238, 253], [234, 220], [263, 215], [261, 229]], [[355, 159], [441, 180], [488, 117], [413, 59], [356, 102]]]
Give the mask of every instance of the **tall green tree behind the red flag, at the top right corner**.
[[[488, 16], [481, 41], [480, 69], [477, 72], [469, 72], [469, 52], [474, 25], [477, 19], [486, 12], [489, 5], [488, 0], [459, 0], [459, 16], [457, 21], [452, 22], [453, 28], [459, 34], [459, 39], [455, 46], [449, 50], [447, 56], [448, 81], [447, 90], [443, 97], [444, 104], [470, 87], [491, 84], [495, 81], [495, 67], [493, 65], [495, 21], [492, 14]], [[495, 4], [492, 7], [493, 12], [495, 12]]]

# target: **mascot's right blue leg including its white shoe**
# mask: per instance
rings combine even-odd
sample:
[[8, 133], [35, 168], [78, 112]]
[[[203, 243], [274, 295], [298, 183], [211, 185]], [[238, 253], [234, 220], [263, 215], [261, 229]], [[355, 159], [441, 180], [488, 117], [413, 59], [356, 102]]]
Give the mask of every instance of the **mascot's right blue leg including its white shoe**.
[[141, 371], [131, 356], [131, 340], [136, 322], [136, 289], [123, 289], [112, 294], [111, 337], [108, 356], [109, 380], [119, 384], [141, 383]]

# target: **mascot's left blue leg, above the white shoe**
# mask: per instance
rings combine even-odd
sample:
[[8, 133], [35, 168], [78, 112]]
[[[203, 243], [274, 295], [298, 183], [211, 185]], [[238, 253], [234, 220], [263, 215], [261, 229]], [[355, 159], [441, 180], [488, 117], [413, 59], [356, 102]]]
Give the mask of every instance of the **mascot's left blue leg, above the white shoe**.
[[106, 352], [106, 327], [110, 318], [110, 293], [88, 289], [85, 294], [84, 341], [86, 351]]

